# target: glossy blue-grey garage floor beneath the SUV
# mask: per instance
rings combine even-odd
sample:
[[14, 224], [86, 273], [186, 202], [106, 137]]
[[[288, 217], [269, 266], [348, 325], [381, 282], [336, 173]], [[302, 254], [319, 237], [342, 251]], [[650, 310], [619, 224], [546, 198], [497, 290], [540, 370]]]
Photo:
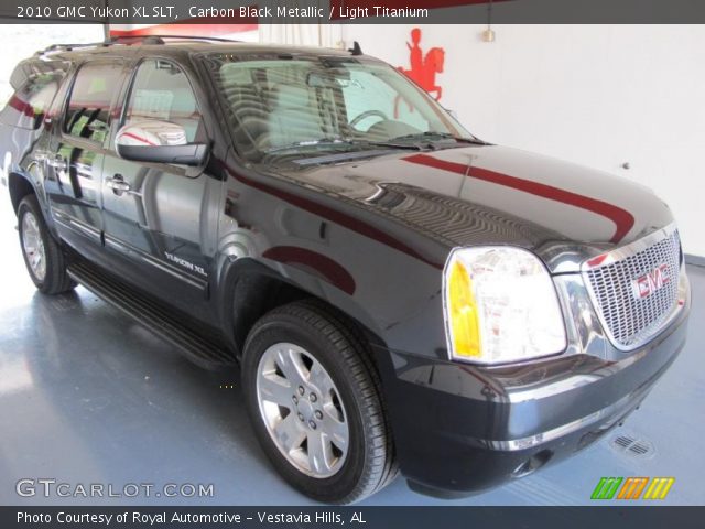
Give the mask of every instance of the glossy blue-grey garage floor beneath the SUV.
[[[258, 447], [237, 373], [199, 370], [83, 288], [58, 298], [36, 293], [14, 219], [6, 204], [0, 208], [0, 505], [128, 503], [15, 494], [18, 479], [44, 477], [119, 489], [215, 485], [214, 498], [134, 500], [142, 505], [311, 504]], [[446, 503], [410, 492], [400, 478], [366, 504], [582, 505], [601, 476], [673, 476], [663, 503], [703, 505], [705, 269], [691, 267], [690, 276], [688, 344], [625, 427], [570, 461], [484, 495]], [[617, 450], [617, 435], [641, 441], [648, 453]]]

